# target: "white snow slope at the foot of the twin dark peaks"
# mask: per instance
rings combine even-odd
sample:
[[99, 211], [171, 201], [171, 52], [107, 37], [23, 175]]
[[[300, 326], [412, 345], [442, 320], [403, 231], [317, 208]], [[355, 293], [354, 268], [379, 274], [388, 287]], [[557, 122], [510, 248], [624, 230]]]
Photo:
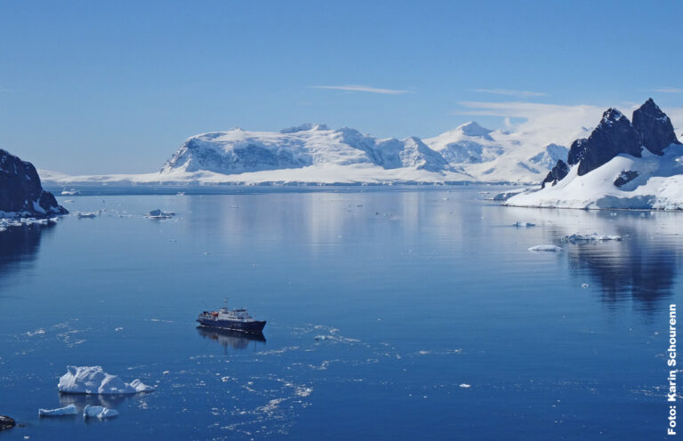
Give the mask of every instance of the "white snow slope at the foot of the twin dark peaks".
[[[683, 209], [683, 146], [671, 144], [663, 156], [646, 148], [642, 157], [615, 156], [607, 164], [578, 175], [573, 165], [563, 180], [534, 192], [512, 196], [504, 205], [558, 208], [635, 208], [655, 210]], [[624, 172], [638, 176], [615, 185]]]

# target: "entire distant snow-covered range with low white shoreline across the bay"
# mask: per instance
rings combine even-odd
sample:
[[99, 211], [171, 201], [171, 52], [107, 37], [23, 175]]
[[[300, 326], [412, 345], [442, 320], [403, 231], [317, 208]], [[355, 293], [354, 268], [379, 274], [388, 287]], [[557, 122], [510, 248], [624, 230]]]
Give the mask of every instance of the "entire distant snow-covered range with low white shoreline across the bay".
[[[301, 124], [280, 132], [233, 129], [192, 136], [160, 172], [66, 176], [84, 183], [536, 183], [567, 149], [534, 132], [486, 129], [475, 122], [425, 140], [378, 139], [355, 129]], [[543, 140], [541, 140], [543, 139]]]

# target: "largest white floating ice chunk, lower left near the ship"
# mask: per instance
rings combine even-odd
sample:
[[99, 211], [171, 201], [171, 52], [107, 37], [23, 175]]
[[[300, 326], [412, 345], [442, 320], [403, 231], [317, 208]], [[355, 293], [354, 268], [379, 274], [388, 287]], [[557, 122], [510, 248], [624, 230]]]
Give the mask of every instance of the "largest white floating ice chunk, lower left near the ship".
[[67, 373], [57, 384], [60, 392], [67, 394], [132, 395], [151, 392], [152, 386], [140, 380], [130, 383], [102, 370], [101, 366], [67, 366]]

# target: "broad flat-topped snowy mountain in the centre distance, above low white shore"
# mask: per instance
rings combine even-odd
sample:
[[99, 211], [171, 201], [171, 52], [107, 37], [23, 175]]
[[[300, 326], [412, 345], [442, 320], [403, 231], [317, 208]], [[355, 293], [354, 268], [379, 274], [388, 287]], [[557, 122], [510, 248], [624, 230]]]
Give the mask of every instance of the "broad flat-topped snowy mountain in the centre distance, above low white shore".
[[210, 132], [193, 136], [169, 159], [162, 174], [236, 174], [321, 165], [376, 165], [444, 172], [448, 164], [418, 138], [378, 140], [357, 130], [303, 124], [280, 132]]

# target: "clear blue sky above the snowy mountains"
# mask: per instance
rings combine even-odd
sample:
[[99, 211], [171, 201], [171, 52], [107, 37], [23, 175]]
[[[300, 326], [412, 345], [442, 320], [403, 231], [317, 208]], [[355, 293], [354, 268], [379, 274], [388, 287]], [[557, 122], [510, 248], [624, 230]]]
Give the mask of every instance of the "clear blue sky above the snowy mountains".
[[153, 172], [236, 125], [430, 137], [502, 127], [482, 102], [681, 108], [680, 17], [676, 2], [2, 2], [0, 148]]

